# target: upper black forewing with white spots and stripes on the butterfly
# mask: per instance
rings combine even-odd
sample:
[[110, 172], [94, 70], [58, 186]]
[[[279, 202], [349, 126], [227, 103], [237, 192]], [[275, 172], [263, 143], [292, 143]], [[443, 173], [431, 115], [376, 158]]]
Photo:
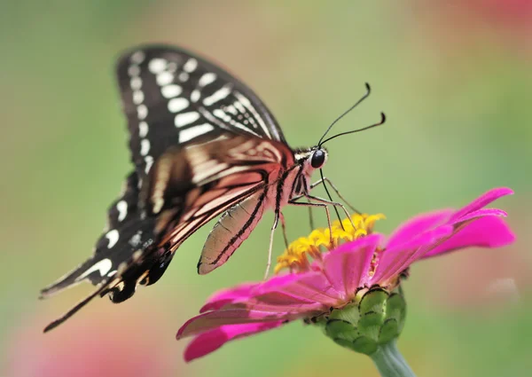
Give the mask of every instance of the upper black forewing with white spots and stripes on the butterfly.
[[286, 144], [252, 90], [187, 51], [165, 46], [129, 51], [117, 75], [140, 177], [168, 147], [203, 143], [226, 131]]

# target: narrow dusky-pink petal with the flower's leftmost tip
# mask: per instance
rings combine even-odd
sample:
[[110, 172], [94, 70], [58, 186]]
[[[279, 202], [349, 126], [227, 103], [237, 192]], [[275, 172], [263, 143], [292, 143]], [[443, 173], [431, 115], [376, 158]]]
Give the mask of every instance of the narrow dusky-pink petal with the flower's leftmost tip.
[[[317, 311], [317, 313], [321, 310]], [[189, 319], [177, 331], [177, 339], [200, 334], [216, 327], [224, 325], [239, 325], [258, 322], [274, 322], [278, 320], [289, 320], [294, 318], [306, 317], [315, 314], [309, 310], [293, 310], [293, 311], [262, 311], [262, 310], [247, 310], [247, 309], [228, 309], [215, 310], [200, 314], [194, 318]]]

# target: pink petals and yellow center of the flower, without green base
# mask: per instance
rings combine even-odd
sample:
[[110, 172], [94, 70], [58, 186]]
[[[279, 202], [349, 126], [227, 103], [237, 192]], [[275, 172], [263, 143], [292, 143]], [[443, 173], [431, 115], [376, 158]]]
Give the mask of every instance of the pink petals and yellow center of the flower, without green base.
[[[354, 225], [350, 231], [348, 226], [335, 224], [332, 244], [328, 230], [321, 231], [321, 236], [315, 231], [308, 239], [297, 240], [287, 255], [279, 257], [280, 264], [291, 270], [289, 273], [215, 294], [201, 308], [199, 316], [179, 329], [177, 339], [194, 336], [185, 350], [185, 360], [205, 356], [225, 342], [282, 326], [293, 319], [313, 323], [319, 318], [328, 319], [332, 310], [348, 308], [353, 302], [360, 304], [363, 296], [375, 287], [391, 297], [401, 276], [419, 259], [465, 247], [502, 247], [512, 243], [515, 237], [501, 218], [506, 216], [505, 211], [484, 208], [509, 194], [512, 190], [498, 188], [464, 208], [413, 217], [388, 240], [382, 234], [372, 233], [376, 216], [344, 220], [342, 224]], [[355, 240], [338, 246], [340, 240], [349, 239], [346, 234], [349, 232]], [[323, 246], [330, 251], [318, 253]], [[312, 263], [308, 256], [314, 259]], [[396, 319], [398, 330], [393, 337], [402, 328], [402, 319]]]

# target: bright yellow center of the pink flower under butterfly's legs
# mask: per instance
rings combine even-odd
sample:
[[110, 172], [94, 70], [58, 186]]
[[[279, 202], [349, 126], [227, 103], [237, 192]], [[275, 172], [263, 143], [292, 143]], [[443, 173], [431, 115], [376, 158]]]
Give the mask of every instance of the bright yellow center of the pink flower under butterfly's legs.
[[[293, 272], [308, 271], [311, 259], [321, 259], [323, 251], [330, 251], [341, 243], [357, 240], [372, 233], [373, 224], [384, 219], [382, 214], [367, 215], [354, 214], [351, 218], [335, 220], [329, 228], [318, 228], [309, 234], [294, 240], [285, 252], [278, 257], [275, 273], [283, 269]], [[343, 225], [343, 226], [342, 226]], [[331, 233], [332, 232], [332, 233]]]

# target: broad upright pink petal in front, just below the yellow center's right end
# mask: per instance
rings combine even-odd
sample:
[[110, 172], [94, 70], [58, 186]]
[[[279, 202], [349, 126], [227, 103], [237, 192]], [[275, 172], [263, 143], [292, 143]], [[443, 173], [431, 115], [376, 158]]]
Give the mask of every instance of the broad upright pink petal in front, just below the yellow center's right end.
[[345, 243], [325, 255], [325, 276], [344, 300], [350, 299], [357, 287], [364, 286], [373, 254], [382, 240], [382, 235], [372, 234]]

